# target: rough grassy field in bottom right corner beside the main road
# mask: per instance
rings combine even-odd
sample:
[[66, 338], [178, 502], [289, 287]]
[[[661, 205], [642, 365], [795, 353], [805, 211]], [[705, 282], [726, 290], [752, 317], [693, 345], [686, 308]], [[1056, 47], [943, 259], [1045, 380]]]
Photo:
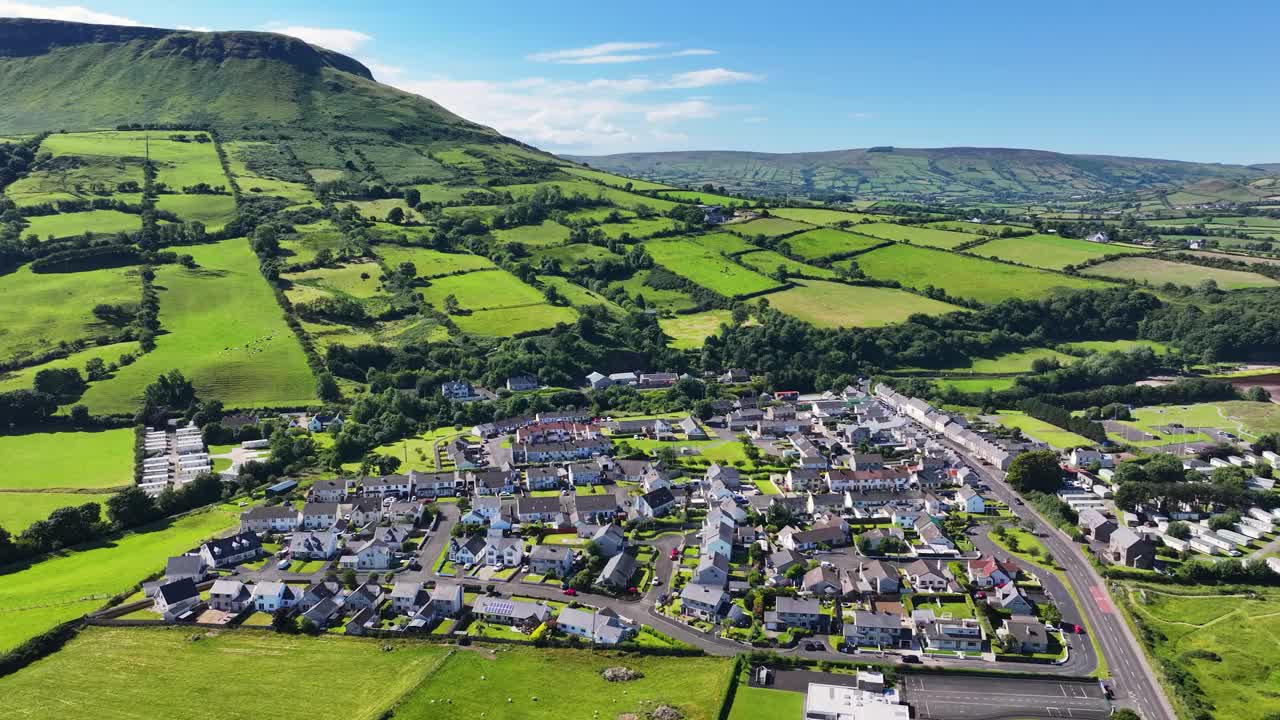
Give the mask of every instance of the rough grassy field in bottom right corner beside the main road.
[[[1121, 605], [1153, 630], [1138, 633], [1148, 651], [1190, 674], [1215, 717], [1262, 720], [1276, 706], [1280, 683], [1280, 593], [1242, 589], [1256, 594], [1126, 583]], [[1176, 693], [1170, 696], [1175, 707], [1181, 705]]]

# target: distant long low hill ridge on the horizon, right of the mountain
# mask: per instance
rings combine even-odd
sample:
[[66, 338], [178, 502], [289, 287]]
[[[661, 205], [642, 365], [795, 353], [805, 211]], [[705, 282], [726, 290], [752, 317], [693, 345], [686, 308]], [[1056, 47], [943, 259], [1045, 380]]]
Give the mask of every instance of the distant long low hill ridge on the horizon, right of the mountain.
[[965, 201], [1069, 199], [1263, 174], [1239, 165], [1000, 147], [627, 152], [568, 159], [673, 184], [712, 182], [759, 195]]

